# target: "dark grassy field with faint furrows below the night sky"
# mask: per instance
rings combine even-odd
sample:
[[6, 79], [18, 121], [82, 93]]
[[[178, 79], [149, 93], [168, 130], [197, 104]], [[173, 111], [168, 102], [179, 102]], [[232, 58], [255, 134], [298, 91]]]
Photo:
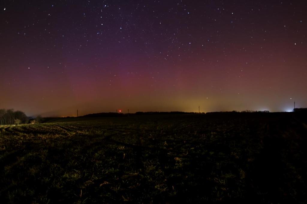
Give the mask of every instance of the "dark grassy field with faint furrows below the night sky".
[[0, 127], [1, 203], [307, 203], [294, 113], [63, 118]]

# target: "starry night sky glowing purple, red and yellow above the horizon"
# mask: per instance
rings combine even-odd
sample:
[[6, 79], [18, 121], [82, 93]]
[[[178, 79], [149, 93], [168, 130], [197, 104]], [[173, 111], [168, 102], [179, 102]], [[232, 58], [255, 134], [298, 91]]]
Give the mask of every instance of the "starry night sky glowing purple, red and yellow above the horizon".
[[0, 108], [307, 106], [306, 1], [0, 2]]

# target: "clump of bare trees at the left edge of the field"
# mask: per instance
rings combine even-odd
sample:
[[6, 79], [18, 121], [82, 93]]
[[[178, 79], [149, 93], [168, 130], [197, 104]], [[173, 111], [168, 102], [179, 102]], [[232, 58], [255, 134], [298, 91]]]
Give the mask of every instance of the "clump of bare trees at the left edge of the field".
[[28, 124], [29, 118], [22, 111], [0, 109], [0, 125]]

